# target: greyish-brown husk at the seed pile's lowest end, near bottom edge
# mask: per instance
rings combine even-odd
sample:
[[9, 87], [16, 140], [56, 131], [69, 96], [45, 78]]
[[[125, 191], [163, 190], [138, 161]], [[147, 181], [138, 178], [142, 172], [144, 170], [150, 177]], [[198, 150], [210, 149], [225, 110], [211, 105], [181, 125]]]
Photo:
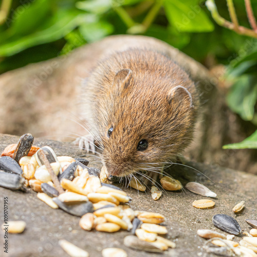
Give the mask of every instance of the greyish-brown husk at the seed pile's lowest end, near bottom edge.
[[132, 249], [146, 251], [146, 252], [162, 252], [159, 247], [150, 242], [142, 241], [135, 235], [127, 235], [124, 237], [124, 245]]

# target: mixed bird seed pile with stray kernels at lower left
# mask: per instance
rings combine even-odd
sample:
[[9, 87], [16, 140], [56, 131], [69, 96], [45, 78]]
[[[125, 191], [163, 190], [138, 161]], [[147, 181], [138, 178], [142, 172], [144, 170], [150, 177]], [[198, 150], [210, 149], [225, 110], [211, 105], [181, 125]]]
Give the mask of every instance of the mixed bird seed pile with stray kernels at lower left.
[[[160, 236], [168, 233], [160, 225], [165, 221], [163, 215], [131, 209], [131, 197], [120, 188], [101, 182], [100, 171], [88, 168], [85, 159], [57, 156], [49, 146], [38, 148], [32, 144], [33, 136], [25, 134], [17, 144], [7, 146], [0, 158], [0, 186], [12, 190], [30, 187], [51, 208], [80, 216], [79, 225], [84, 230], [131, 231], [132, 235], [124, 238], [128, 247], [149, 252], [175, 247], [175, 243]], [[22, 233], [26, 223], [17, 221], [8, 225], [9, 233]], [[59, 244], [71, 256], [88, 256], [86, 251], [65, 240]], [[107, 249], [104, 256], [123, 251]]]

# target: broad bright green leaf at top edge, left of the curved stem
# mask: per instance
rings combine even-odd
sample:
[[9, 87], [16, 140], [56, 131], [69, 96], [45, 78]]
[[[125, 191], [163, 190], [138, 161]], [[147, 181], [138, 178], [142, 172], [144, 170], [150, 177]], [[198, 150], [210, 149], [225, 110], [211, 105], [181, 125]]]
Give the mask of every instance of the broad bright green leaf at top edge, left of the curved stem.
[[179, 32], [213, 31], [214, 25], [201, 9], [197, 0], [165, 0], [167, 18]]

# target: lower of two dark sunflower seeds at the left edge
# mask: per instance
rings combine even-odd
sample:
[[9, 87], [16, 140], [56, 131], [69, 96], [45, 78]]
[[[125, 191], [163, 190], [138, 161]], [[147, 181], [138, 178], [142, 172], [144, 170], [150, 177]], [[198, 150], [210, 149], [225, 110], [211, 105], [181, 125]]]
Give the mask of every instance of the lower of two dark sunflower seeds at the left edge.
[[0, 172], [0, 187], [12, 190], [22, 189], [24, 186], [25, 178], [20, 175]]

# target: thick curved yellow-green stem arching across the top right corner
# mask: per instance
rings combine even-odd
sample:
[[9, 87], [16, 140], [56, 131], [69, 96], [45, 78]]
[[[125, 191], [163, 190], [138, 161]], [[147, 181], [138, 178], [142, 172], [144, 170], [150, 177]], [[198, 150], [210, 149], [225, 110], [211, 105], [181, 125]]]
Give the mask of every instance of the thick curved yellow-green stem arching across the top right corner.
[[[215, 5], [214, 0], [207, 0], [206, 1], [206, 6], [209, 9], [209, 11], [211, 12], [211, 15], [213, 17], [213, 20], [220, 26], [223, 26], [225, 28], [228, 28], [230, 30], [234, 30], [235, 32], [237, 32], [238, 34], [242, 34], [242, 35], [247, 35], [247, 36], [251, 36], [252, 38], [257, 39], [257, 31], [253, 31], [251, 29], [248, 29], [246, 27], [243, 26], [238, 26], [237, 30], [235, 28], [235, 24], [231, 23], [227, 20], [225, 20], [222, 16], [219, 15], [218, 11], [217, 11], [217, 7]], [[231, 19], [232, 20], [232, 19]]]

